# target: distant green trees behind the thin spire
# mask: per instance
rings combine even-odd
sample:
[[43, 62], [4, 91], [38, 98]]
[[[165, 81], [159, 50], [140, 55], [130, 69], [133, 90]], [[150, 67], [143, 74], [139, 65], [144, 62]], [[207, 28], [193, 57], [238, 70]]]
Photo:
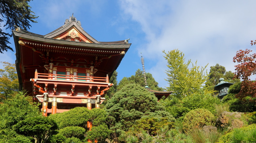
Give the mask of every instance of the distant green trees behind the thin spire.
[[[158, 87], [158, 82], [153, 78], [151, 73], [146, 72], [146, 80], [147, 80], [147, 86], [150, 87], [152, 90], [159, 90], [163, 91], [163, 88]], [[141, 87], [145, 87], [145, 81], [144, 81], [144, 74], [143, 71], [138, 69], [135, 72], [135, 75], [132, 75], [131, 77], [124, 77], [118, 84], [117, 90], [120, 90], [122, 87], [124, 87], [127, 84], [138, 84]]]

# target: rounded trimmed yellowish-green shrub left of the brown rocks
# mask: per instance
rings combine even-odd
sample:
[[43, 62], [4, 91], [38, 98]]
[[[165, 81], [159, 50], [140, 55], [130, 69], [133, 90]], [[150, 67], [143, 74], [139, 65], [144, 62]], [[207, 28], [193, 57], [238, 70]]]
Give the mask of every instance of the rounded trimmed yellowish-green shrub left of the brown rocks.
[[183, 129], [189, 131], [193, 128], [202, 128], [204, 125], [213, 125], [214, 119], [213, 114], [207, 109], [191, 110], [184, 117]]

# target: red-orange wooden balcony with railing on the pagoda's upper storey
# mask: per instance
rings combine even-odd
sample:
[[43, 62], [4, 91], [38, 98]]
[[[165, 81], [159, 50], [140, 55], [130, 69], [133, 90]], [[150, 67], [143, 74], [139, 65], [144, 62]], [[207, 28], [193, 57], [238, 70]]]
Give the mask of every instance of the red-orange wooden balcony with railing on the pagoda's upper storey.
[[[67, 92], [67, 95], [74, 96], [75, 89], [83, 90], [85, 96], [103, 95], [113, 84], [109, 83], [108, 75], [106, 77], [78, 76], [37, 73], [30, 79], [34, 87], [34, 95], [48, 92], [49, 95], [58, 95], [61, 91]], [[58, 92], [57, 92], [58, 88]], [[92, 91], [93, 89], [93, 91]], [[91, 93], [94, 94], [91, 94]], [[75, 94], [74, 94], [75, 93]]]

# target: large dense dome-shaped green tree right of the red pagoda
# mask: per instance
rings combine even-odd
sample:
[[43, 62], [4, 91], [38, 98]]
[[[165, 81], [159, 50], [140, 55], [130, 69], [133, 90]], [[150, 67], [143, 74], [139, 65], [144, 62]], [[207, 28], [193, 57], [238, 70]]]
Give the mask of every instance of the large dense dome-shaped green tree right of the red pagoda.
[[105, 107], [114, 139], [117, 139], [122, 131], [128, 131], [135, 121], [142, 117], [167, 115], [172, 118], [165, 111], [159, 112], [164, 107], [160, 105], [153, 93], [138, 84], [124, 86], [116, 92]]

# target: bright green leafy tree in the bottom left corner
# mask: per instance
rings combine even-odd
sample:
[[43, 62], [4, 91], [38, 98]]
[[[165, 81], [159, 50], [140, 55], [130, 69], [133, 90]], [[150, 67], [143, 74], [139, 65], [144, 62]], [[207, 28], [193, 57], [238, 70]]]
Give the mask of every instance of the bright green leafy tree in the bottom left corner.
[[14, 125], [27, 118], [42, 116], [38, 106], [30, 103], [29, 98], [19, 92], [0, 104], [0, 142], [14, 142], [14, 138], [23, 138], [25, 141], [24, 138], [27, 137], [18, 135], [14, 131]]

